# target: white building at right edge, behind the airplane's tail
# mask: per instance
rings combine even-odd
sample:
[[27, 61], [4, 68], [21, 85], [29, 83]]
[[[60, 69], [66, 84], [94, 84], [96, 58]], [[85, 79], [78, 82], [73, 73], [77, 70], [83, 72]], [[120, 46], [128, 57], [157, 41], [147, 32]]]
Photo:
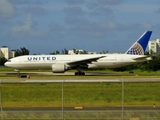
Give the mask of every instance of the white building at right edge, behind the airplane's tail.
[[149, 41], [148, 48], [150, 54], [160, 55], [160, 39]]

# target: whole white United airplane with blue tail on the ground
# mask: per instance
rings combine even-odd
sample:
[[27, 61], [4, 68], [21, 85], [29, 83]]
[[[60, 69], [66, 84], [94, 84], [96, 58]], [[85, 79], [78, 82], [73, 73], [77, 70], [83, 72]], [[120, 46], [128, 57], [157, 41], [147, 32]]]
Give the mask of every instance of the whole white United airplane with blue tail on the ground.
[[118, 68], [152, 60], [144, 55], [152, 31], [146, 31], [124, 54], [24, 55], [9, 59], [5, 66], [20, 69], [52, 69], [64, 73], [77, 69], [75, 75], [85, 75], [82, 69]]

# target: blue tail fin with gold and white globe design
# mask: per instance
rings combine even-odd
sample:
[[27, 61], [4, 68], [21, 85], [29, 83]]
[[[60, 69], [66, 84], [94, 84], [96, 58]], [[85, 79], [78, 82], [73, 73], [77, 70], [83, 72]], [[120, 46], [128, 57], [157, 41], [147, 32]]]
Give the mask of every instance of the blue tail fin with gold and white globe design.
[[146, 31], [127, 51], [125, 54], [144, 55], [152, 31]]

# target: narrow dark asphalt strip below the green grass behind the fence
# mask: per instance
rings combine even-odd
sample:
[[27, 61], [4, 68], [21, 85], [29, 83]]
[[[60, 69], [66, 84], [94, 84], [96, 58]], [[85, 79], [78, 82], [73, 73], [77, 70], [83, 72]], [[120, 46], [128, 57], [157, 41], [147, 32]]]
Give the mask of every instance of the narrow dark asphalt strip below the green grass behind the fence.
[[[64, 107], [64, 111], [97, 111], [97, 110], [113, 110], [113, 111], [159, 111], [160, 106], [132, 106], [132, 107]], [[3, 111], [61, 111], [62, 107], [8, 107], [3, 108]]]

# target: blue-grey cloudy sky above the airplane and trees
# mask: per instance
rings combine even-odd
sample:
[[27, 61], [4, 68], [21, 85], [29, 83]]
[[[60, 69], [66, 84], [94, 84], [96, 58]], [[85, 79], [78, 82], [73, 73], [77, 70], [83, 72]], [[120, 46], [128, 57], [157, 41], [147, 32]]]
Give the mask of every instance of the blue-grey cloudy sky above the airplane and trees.
[[0, 47], [10, 50], [125, 52], [147, 30], [160, 38], [160, 0], [0, 0]]

